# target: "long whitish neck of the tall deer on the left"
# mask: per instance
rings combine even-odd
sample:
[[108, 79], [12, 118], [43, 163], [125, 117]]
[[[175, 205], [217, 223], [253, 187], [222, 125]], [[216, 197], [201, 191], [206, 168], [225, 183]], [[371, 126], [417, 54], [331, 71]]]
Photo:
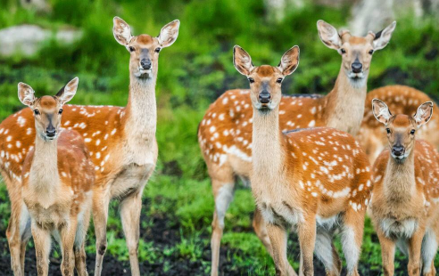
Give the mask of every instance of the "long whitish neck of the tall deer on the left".
[[151, 78], [138, 78], [131, 74], [124, 132], [128, 141], [152, 143], [157, 125], [155, 101], [156, 73]]

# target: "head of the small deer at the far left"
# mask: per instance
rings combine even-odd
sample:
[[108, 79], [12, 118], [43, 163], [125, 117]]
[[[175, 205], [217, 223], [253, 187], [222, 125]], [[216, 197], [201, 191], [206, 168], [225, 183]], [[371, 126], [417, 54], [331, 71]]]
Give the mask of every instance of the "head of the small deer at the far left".
[[19, 83], [20, 101], [34, 112], [35, 129], [43, 140], [54, 140], [61, 126], [62, 105], [70, 101], [78, 89], [79, 78], [75, 77], [54, 96], [35, 97], [29, 85]]

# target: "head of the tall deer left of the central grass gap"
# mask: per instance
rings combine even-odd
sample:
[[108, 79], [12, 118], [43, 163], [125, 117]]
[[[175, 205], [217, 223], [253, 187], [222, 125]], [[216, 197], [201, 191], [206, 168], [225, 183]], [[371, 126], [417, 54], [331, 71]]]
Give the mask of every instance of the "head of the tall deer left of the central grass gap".
[[140, 35], [133, 37], [131, 28], [124, 20], [114, 17], [112, 33], [120, 45], [131, 54], [129, 72], [135, 77], [152, 78], [157, 76], [159, 53], [162, 48], [172, 45], [178, 37], [179, 20], [166, 24], [158, 37]]

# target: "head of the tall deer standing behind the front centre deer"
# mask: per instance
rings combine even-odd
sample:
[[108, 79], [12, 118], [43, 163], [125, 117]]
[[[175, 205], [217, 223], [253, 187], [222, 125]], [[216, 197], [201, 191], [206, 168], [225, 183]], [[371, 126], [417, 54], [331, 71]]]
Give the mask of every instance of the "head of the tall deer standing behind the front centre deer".
[[317, 21], [320, 40], [342, 55], [344, 73], [355, 87], [366, 85], [372, 54], [389, 43], [395, 27], [396, 22], [393, 21], [377, 33], [369, 31], [366, 37], [354, 37], [348, 30], [337, 32], [324, 20]]

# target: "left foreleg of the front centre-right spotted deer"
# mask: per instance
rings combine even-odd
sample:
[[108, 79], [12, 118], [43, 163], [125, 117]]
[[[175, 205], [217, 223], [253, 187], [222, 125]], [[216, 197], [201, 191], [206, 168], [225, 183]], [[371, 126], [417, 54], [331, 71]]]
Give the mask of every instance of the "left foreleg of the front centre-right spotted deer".
[[296, 276], [297, 274], [286, 258], [286, 230], [281, 226], [271, 223], [266, 223], [266, 226], [269, 233], [269, 241], [273, 248], [273, 260], [276, 265], [277, 275]]

